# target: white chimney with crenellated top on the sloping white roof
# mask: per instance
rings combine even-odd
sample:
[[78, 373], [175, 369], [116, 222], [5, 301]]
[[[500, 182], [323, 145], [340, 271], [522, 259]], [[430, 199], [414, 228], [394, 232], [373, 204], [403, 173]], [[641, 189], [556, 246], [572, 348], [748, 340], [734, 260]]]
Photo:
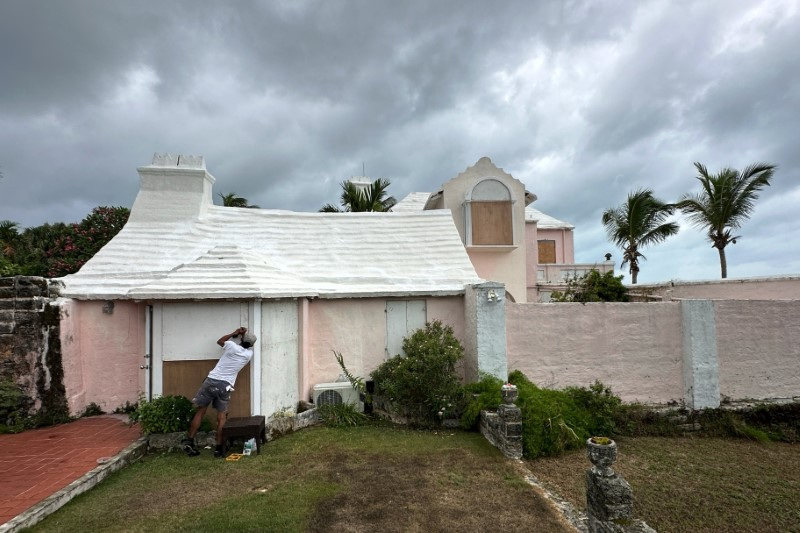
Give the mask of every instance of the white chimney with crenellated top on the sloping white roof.
[[139, 194], [131, 208], [131, 222], [194, 220], [213, 205], [214, 176], [203, 156], [155, 154], [139, 167]]

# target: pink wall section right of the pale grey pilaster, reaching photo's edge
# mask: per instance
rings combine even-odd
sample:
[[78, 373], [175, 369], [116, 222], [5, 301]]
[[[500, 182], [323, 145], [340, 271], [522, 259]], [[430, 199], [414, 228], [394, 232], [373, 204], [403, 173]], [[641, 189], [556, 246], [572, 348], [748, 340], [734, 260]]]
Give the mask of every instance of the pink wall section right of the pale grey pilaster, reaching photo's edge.
[[800, 396], [800, 301], [714, 302], [720, 394]]

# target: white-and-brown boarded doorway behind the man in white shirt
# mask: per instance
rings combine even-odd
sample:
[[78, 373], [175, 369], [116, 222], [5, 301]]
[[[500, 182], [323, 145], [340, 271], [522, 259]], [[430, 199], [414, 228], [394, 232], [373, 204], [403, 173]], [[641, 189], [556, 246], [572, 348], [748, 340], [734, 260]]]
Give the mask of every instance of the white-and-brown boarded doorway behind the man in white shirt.
[[[191, 302], [162, 304], [154, 318], [154, 359], [161, 362], [161, 394], [191, 399], [222, 348], [217, 339], [239, 326], [251, 327], [249, 304]], [[250, 367], [236, 377], [229, 416], [250, 416]], [[209, 417], [216, 422], [216, 417]]]

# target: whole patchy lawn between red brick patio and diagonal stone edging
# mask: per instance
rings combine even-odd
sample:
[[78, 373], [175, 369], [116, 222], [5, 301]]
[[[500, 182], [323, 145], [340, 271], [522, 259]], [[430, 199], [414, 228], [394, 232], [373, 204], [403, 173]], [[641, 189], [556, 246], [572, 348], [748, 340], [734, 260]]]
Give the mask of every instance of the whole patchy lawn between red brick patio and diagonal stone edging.
[[[580, 474], [579, 474], [580, 475]], [[535, 526], [533, 526], [535, 524]], [[150, 455], [34, 531], [570, 531], [478, 433], [315, 427], [237, 462]]]

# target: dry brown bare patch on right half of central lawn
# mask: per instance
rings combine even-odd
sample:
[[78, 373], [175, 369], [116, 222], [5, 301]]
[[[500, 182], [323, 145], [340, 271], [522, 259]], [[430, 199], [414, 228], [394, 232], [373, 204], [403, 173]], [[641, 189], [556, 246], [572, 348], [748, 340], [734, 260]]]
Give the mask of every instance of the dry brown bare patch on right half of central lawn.
[[309, 531], [571, 531], [510, 465], [463, 455], [339, 455], [328, 476], [345, 489], [318, 505]]

